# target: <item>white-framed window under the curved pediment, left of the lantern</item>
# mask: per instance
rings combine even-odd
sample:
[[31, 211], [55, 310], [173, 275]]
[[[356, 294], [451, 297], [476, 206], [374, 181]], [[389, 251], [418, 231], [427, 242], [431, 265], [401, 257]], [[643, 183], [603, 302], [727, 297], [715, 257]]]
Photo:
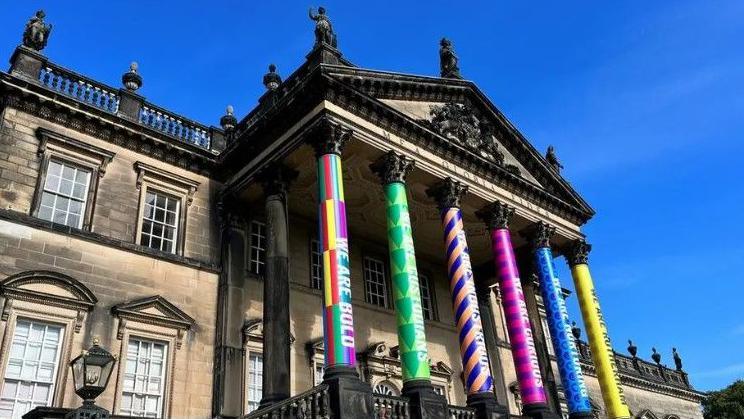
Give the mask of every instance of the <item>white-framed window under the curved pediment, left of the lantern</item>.
[[[12, 346], [16, 342], [16, 336], [15, 335], [16, 335], [16, 332], [18, 331], [18, 324], [21, 323], [21, 322], [26, 322], [26, 323], [29, 324], [29, 337], [30, 337], [31, 330], [33, 329], [33, 326], [34, 325], [37, 325], [37, 326], [38, 325], [41, 325], [41, 326], [43, 326], [45, 328], [44, 329], [44, 336], [46, 336], [46, 333], [47, 333], [49, 327], [59, 328], [59, 336], [57, 338], [57, 344], [56, 344], [56, 348], [55, 348], [56, 354], [55, 354], [55, 359], [53, 361], [51, 382], [44, 382], [44, 381], [41, 381], [39, 379], [23, 379], [21, 377], [19, 377], [19, 378], [8, 377], [8, 366], [9, 366], [10, 359], [11, 359]], [[31, 409], [33, 409], [34, 407], [37, 407], [37, 406], [52, 406], [53, 401], [54, 401], [55, 391], [56, 391], [56, 388], [57, 388], [58, 379], [59, 379], [60, 361], [62, 359], [63, 352], [64, 352], [64, 342], [65, 342], [65, 335], [66, 335], [65, 331], [66, 331], [65, 330], [65, 326], [63, 324], [58, 324], [58, 323], [48, 322], [48, 321], [39, 321], [39, 320], [37, 320], [35, 318], [26, 318], [26, 317], [16, 317], [15, 318], [15, 322], [13, 324], [12, 330], [9, 331], [9, 332], [12, 332], [12, 333], [9, 333], [10, 347], [7, 347], [7, 352], [8, 353], [7, 353], [7, 356], [5, 357], [6, 359], [4, 360], [4, 364], [3, 364], [3, 367], [4, 368], [3, 368], [2, 381], [0, 382], [0, 403], [4, 403], [7, 400], [13, 400], [13, 402], [11, 402], [11, 403], [13, 403], [13, 406], [14, 406], [14, 408], [13, 408], [13, 417], [14, 418], [19, 418], [20, 417], [19, 415], [16, 414], [16, 410], [15, 410], [16, 409], [15, 406], [19, 402], [19, 398], [17, 397], [18, 396], [18, 393], [17, 393], [18, 392], [18, 389], [16, 389], [16, 397], [6, 398], [6, 397], [3, 397], [2, 396], [2, 395], [5, 394], [5, 392], [6, 392], [6, 385], [9, 382], [15, 382], [15, 383], [17, 383], [19, 385], [22, 384], [22, 383], [31, 383], [31, 385], [32, 385], [32, 390], [31, 390], [31, 393], [32, 393], [31, 396], [32, 397], [30, 397], [28, 399], [24, 399], [24, 401], [22, 402], [24, 404], [29, 404], [29, 406], [28, 406], [29, 409], [28, 410], [24, 410], [23, 412], [21, 412], [21, 415], [27, 413], [28, 411], [30, 411]], [[39, 349], [38, 358], [36, 360], [31, 360], [32, 363], [33, 362], [41, 363], [41, 355], [43, 353], [44, 344], [45, 344], [45, 339], [42, 338], [42, 341], [41, 341], [42, 347]], [[25, 369], [26, 368], [26, 365], [27, 365], [27, 362], [29, 362], [29, 360], [26, 359], [26, 353], [27, 353], [28, 349], [29, 349], [28, 339], [26, 339], [26, 345], [24, 347], [24, 354], [23, 354], [23, 356], [21, 358], [21, 362], [22, 362], [22, 364], [21, 364], [21, 370]], [[38, 368], [38, 366], [37, 366], [37, 368]], [[40, 402], [39, 400], [34, 400], [34, 398], [33, 398], [33, 393], [35, 393], [34, 390], [36, 389], [37, 384], [39, 384], [39, 383], [41, 383], [41, 384], [48, 384], [49, 385], [49, 390], [48, 390], [49, 393], [47, 394], [47, 398], [46, 398], [46, 400], [44, 400], [41, 403], [39, 403]]]

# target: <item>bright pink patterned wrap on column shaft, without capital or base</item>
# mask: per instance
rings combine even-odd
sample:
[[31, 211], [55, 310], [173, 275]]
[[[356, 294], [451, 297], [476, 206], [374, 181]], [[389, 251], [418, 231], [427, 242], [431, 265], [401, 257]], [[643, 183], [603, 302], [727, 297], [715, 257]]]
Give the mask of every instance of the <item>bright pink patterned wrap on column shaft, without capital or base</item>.
[[525, 408], [546, 405], [545, 388], [509, 229], [492, 228], [491, 241], [522, 403]]

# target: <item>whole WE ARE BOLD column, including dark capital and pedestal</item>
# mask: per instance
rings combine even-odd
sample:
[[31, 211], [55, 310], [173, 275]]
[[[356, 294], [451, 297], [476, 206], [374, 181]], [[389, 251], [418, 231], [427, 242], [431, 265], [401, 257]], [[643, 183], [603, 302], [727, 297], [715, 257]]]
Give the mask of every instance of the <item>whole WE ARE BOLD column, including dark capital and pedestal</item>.
[[331, 409], [338, 419], [372, 415], [372, 390], [359, 380], [351, 305], [349, 241], [341, 170], [341, 151], [351, 130], [322, 116], [309, 141], [318, 164], [319, 241], [323, 252], [323, 339]]

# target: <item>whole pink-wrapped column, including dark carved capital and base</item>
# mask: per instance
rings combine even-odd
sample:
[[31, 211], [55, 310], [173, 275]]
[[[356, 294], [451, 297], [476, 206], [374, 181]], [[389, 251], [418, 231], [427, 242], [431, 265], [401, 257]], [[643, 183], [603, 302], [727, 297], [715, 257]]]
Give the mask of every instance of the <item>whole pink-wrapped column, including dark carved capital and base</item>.
[[527, 304], [511, 243], [509, 218], [513, 214], [513, 208], [498, 201], [479, 211], [491, 232], [496, 274], [499, 277], [523, 413], [533, 418], [554, 417], [545, 396]]

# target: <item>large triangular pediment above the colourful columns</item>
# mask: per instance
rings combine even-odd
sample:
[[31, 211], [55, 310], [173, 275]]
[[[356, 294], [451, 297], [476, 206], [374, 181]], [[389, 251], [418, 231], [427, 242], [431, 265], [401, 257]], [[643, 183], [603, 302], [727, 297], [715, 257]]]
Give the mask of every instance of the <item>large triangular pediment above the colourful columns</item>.
[[[384, 107], [387, 118], [398, 119], [385, 121], [386, 128], [449, 143], [448, 153], [456, 148], [469, 160], [482, 163], [499, 183], [535, 189], [558, 206], [570, 207], [576, 213], [572, 218], [581, 224], [594, 214], [561, 176], [556, 162], [538, 152], [474, 83], [343, 66], [328, 66], [325, 72], [356, 93], [353, 98], [346, 92], [337, 93], [335, 99], [341, 106], [363, 111], [367, 106]], [[342, 90], [335, 83], [334, 87]], [[359, 101], [369, 105], [355, 103]]]

